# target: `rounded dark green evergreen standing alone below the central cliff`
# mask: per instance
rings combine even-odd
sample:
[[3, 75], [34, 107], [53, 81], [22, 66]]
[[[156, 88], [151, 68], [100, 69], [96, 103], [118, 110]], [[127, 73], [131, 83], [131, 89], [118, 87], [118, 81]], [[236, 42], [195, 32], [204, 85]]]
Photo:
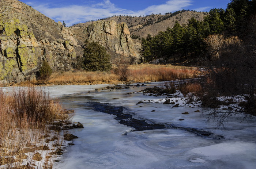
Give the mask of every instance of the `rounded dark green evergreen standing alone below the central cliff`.
[[109, 71], [110, 55], [98, 42], [84, 42], [83, 69], [87, 71]]

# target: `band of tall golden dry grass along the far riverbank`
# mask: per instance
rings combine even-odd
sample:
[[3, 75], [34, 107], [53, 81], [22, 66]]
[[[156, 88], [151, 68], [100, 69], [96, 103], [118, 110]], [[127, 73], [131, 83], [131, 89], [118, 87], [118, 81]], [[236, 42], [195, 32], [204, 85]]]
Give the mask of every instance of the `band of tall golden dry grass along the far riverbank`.
[[[23, 85], [32, 84], [50, 84], [50, 85], [67, 85], [67, 84], [117, 84], [120, 81], [120, 74], [116, 73], [115, 66], [110, 72], [55, 72], [47, 82], [34, 81], [23, 82]], [[144, 81], [166, 81], [176, 79], [187, 79], [196, 77], [195, 68], [172, 65], [129, 65], [129, 75], [127, 81], [144, 82]]]

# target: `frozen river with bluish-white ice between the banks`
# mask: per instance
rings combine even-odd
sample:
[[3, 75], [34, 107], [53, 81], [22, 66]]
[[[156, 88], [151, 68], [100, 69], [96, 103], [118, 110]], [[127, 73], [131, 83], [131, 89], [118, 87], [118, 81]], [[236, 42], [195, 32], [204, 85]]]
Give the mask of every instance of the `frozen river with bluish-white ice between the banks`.
[[[106, 85], [48, 87], [65, 108], [75, 110], [74, 122], [84, 125], [71, 130], [79, 138], [58, 157], [54, 169], [256, 168], [255, 121], [230, 118], [226, 131], [215, 130], [214, 123], [206, 123], [204, 115], [194, 112], [199, 107], [189, 107], [181, 97], [174, 100], [183, 106], [172, 108], [162, 104], [166, 96], [127, 95], [160, 83], [146, 85], [114, 91], [95, 91]], [[160, 127], [125, 125], [132, 120]]]

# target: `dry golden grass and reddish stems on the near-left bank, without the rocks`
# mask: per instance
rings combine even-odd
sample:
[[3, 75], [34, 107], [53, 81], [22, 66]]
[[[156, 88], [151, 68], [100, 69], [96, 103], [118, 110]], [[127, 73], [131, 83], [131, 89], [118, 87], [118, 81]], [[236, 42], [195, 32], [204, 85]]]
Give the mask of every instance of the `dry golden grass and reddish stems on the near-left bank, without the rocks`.
[[[20, 87], [4, 93], [0, 88], [0, 168], [51, 168], [53, 159], [36, 162], [35, 154], [48, 154], [42, 135], [62, 140], [47, 125], [65, 120], [59, 103], [35, 87]], [[38, 159], [41, 158], [38, 157]]]

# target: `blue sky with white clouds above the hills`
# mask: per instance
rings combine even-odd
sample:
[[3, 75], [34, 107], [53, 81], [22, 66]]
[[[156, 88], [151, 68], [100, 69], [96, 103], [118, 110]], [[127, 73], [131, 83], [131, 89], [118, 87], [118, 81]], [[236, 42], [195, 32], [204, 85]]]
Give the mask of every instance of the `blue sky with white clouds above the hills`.
[[56, 22], [68, 26], [113, 15], [143, 16], [181, 9], [210, 11], [226, 8], [230, 0], [20, 0]]

